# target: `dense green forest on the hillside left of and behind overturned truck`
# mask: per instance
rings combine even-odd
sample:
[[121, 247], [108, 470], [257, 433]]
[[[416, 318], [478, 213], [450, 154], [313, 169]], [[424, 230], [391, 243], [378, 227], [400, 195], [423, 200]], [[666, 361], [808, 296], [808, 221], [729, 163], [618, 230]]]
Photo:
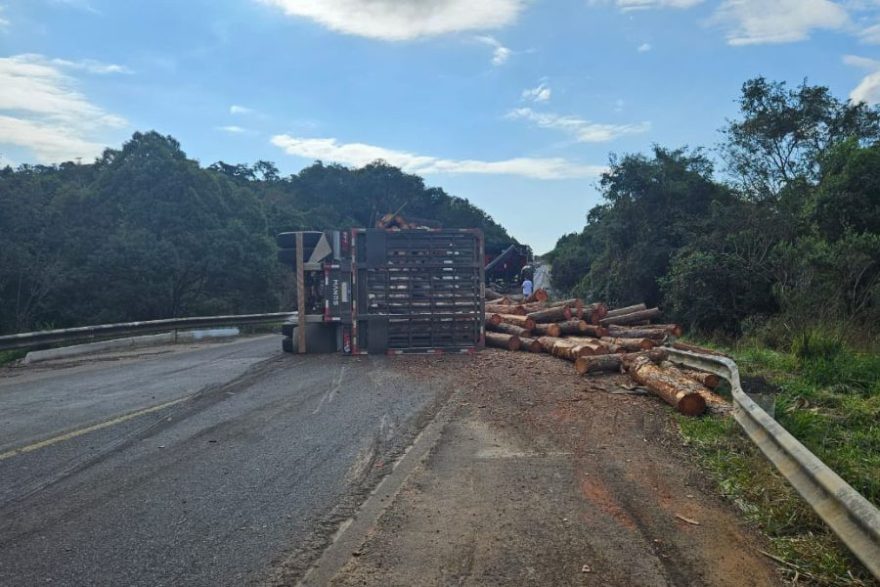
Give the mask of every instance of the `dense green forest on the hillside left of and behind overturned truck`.
[[466, 199], [383, 162], [202, 167], [135, 133], [94, 163], [0, 169], [0, 334], [288, 310], [274, 236], [371, 226], [387, 212], [514, 240]]

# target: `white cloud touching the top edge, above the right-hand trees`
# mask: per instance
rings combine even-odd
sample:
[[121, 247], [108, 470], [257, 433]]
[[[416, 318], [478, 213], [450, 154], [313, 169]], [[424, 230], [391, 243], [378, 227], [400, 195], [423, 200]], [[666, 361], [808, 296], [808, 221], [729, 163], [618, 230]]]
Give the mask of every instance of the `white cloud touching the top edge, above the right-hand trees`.
[[803, 41], [813, 29], [841, 29], [849, 15], [830, 0], [724, 0], [712, 22], [728, 29], [730, 45], [759, 45]]

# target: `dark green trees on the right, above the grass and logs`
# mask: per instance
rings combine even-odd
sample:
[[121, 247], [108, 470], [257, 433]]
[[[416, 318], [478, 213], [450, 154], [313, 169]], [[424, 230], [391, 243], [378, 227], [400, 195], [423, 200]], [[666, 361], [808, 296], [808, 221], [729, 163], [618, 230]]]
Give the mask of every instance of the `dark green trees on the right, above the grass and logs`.
[[612, 155], [602, 203], [548, 255], [554, 284], [704, 336], [876, 341], [880, 109], [764, 78], [738, 106], [714, 149]]

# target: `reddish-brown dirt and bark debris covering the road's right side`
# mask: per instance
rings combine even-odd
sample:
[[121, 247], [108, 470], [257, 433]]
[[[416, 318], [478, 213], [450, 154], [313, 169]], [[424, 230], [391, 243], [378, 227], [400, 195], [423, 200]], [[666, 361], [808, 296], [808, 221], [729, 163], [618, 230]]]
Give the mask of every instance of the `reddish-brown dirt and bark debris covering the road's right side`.
[[782, 583], [626, 378], [494, 350], [399, 367], [454, 386], [454, 417], [333, 585]]

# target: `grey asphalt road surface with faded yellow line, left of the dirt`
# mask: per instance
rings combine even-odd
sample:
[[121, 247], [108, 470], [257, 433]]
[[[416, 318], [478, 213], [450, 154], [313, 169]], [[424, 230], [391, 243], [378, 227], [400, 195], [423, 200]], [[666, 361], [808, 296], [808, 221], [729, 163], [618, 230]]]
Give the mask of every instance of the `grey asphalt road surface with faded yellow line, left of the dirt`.
[[269, 336], [0, 370], [0, 585], [307, 563], [442, 402], [400, 360]]

